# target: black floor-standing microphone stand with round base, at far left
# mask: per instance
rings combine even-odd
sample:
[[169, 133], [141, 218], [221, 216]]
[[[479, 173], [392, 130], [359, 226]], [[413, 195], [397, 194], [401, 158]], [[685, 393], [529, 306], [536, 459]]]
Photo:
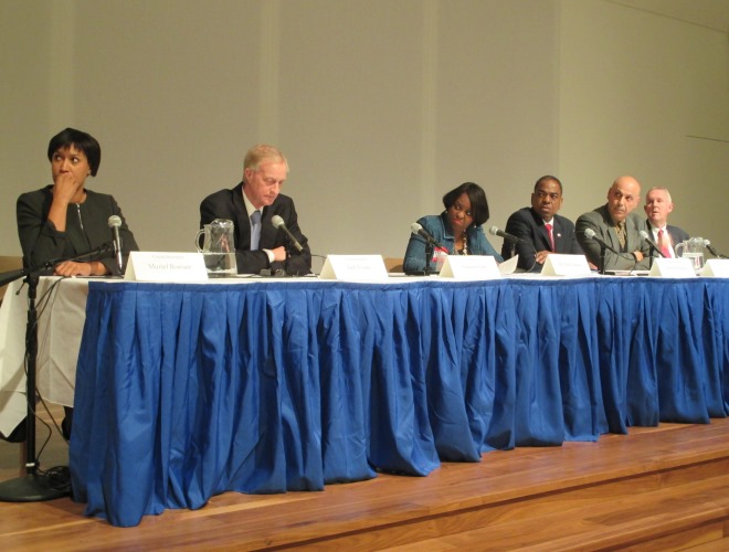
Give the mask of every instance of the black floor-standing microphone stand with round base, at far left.
[[38, 311], [35, 299], [38, 282], [43, 270], [53, 268], [64, 261], [80, 261], [85, 257], [102, 258], [102, 253], [109, 251], [112, 242], [83, 253], [75, 257], [59, 258], [43, 265], [11, 270], [0, 274], [0, 286], [25, 278], [28, 284], [28, 322], [25, 325], [25, 401], [28, 404], [25, 415], [25, 476], [0, 482], [0, 501], [3, 502], [40, 502], [68, 496], [70, 490], [53, 487], [47, 475], [39, 474], [39, 461], [35, 457], [35, 375], [38, 362]]

